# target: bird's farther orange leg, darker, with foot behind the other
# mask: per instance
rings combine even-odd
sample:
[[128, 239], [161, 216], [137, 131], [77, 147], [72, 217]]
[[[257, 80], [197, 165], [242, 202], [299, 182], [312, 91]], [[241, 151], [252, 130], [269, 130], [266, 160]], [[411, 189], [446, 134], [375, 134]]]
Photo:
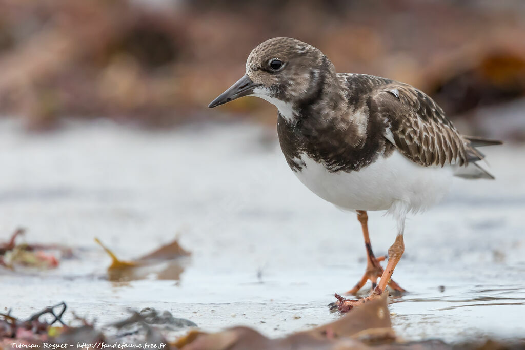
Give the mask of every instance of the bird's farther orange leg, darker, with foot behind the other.
[[[384, 273], [383, 268], [381, 267], [379, 262], [386, 259], [386, 257], [384, 256], [379, 258], [376, 258], [374, 256], [374, 252], [372, 251], [372, 245], [370, 243], [370, 236], [368, 233], [368, 215], [366, 214], [366, 211], [357, 210], [357, 213], [358, 220], [359, 222], [361, 222], [361, 228], [363, 229], [364, 246], [366, 248], [366, 270], [363, 274], [363, 277], [359, 280], [358, 283], [354, 285], [354, 287], [351, 290], [345, 293], [346, 295], [355, 295], [361, 288], [363, 288], [363, 286], [366, 284], [366, 281], [368, 280], [372, 282], [372, 289], [374, 289], [377, 286], [377, 278], [382, 277]], [[400, 287], [399, 284], [392, 280], [388, 282], [388, 287], [400, 292], [405, 291], [403, 288]]]

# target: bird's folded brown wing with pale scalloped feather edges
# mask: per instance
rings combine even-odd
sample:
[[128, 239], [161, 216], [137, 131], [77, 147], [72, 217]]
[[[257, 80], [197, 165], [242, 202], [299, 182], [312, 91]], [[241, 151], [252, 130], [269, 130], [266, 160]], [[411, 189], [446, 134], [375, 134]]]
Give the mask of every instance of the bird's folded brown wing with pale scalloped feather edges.
[[371, 94], [369, 106], [370, 113], [385, 122], [385, 138], [417, 164], [464, 165], [481, 158], [443, 110], [425, 93], [408, 84], [384, 84]]

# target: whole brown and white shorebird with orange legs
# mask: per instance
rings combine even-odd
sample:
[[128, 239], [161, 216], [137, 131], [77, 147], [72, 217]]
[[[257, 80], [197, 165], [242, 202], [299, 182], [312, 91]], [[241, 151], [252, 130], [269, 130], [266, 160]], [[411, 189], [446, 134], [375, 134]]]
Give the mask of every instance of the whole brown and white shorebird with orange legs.
[[[321, 50], [303, 41], [272, 38], [256, 46], [245, 75], [208, 107], [245, 96], [277, 107], [281, 150], [299, 180], [357, 215], [367, 266], [346, 294], [356, 295], [369, 280], [372, 289], [361, 299], [336, 293], [341, 312], [380, 298], [387, 287], [405, 292], [391, 277], [404, 252], [408, 214], [436, 204], [454, 177], [494, 179], [479, 164], [485, 155], [478, 147], [500, 141], [460, 134], [432, 98], [407, 83], [336, 72]], [[396, 221], [387, 256], [373, 253], [367, 211], [386, 211]]]

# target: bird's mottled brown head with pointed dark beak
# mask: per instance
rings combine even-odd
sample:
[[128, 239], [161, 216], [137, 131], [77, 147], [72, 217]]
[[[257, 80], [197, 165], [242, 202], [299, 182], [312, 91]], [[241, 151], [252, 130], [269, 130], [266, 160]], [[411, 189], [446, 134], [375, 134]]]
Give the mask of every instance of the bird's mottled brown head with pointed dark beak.
[[208, 105], [213, 108], [243, 96], [257, 96], [283, 109], [319, 93], [333, 65], [323, 53], [302, 41], [274, 38], [259, 44], [246, 61], [246, 74]]

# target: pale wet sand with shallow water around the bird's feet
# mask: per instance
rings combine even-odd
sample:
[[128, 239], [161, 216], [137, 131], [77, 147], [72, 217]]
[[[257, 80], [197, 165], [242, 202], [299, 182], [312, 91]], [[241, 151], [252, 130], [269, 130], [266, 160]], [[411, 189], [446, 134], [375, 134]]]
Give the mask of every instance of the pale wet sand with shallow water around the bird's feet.
[[[484, 152], [497, 181], [457, 179], [443, 203], [407, 220], [394, 279], [409, 292], [390, 305], [407, 340], [525, 337], [525, 147]], [[19, 317], [64, 300], [107, 324], [149, 306], [206, 331], [280, 336], [339, 317], [327, 304], [364, 271], [358, 221], [297, 181], [272, 129], [70, 122], [35, 135], [7, 119], [0, 164], [2, 237], [24, 226], [28, 242], [77, 248], [56, 270], [0, 274], [0, 306]], [[383, 254], [394, 221], [369, 217]], [[176, 234], [192, 252], [179, 281], [106, 280], [110, 259], [93, 238], [131, 259]]]

